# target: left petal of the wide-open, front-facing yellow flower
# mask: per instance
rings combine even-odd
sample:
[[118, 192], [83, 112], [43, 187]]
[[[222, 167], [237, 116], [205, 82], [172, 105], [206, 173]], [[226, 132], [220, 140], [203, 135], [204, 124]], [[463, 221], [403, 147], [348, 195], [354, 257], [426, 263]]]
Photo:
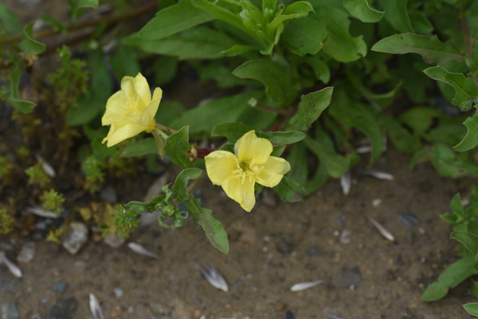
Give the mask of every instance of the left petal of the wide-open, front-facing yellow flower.
[[239, 169], [238, 158], [231, 152], [215, 150], [204, 157], [207, 176], [214, 185], [221, 185], [234, 170]]

